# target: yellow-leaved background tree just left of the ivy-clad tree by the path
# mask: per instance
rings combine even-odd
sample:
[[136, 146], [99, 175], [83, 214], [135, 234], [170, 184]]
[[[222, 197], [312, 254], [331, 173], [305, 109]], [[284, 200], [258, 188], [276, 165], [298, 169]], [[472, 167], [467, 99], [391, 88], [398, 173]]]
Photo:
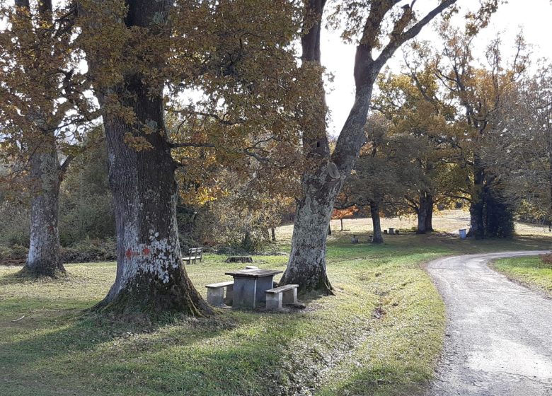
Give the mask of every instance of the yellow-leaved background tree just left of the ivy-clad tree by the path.
[[401, 144], [403, 168], [410, 174], [403, 180], [403, 197], [418, 216], [416, 232], [431, 232], [437, 202], [458, 194], [465, 184], [450, 177], [462, 173], [457, 141], [464, 131], [454, 122], [456, 108], [439, 98], [439, 81], [427, 66], [410, 66], [408, 74], [387, 74], [378, 86], [374, 108], [389, 120], [389, 135], [401, 136], [396, 144]]

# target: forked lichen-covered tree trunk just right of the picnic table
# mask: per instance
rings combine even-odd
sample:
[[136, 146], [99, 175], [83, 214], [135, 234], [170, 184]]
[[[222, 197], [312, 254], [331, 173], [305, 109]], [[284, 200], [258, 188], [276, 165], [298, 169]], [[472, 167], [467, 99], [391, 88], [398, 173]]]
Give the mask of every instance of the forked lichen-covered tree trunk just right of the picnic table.
[[[304, 64], [320, 66], [321, 16], [325, 4], [325, 0], [309, 0], [306, 3], [305, 25], [309, 25], [309, 30], [301, 37], [301, 59]], [[372, 66], [373, 59], [366, 51], [363, 45], [357, 47], [355, 103], [333, 153], [330, 154], [326, 135], [326, 96], [321, 74], [317, 81], [317, 100], [309, 101], [307, 106], [310, 107], [306, 107], [304, 149], [307, 158], [318, 165], [314, 172], [307, 172], [301, 180], [303, 194], [297, 204], [292, 252], [280, 281], [282, 284], [299, 284], [301, 291], [332, 292], [326, 272], [326, 238], [331, 213], [345, 177], [350, 174], [360, 148], [366, 141], [364, 125], [372, 98], [372, 86], [380, 68]]]

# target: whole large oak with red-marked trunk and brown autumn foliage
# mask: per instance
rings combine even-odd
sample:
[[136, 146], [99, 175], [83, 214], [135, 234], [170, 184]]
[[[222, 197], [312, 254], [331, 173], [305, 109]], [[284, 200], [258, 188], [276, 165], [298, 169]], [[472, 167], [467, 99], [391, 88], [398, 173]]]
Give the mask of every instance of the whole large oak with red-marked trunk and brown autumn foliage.
[[294, 174], [295, 103], [310, 93], [296, 82], [309, 81], [290, 45], [296, 11], [288, 1], [79, 1], [117, 227], [117, 277], [98, 309], [211, 312], [180, 257], [176, 172], [193, 182], [216, 161], [260, 179]]

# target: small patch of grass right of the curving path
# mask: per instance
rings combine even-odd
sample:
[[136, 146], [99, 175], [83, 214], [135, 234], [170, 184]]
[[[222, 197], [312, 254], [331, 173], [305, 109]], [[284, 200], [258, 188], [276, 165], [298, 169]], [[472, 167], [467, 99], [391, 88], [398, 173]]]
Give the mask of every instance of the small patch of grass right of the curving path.
[[544, 264], [540, 257], [496, 260], [493, 267], [508, 278], [552, 297], [552, 264]]

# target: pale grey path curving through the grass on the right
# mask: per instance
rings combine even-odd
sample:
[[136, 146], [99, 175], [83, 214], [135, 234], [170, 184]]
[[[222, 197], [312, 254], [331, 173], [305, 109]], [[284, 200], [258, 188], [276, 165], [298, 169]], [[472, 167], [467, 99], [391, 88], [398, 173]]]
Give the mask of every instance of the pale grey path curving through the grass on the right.
[[435, 260], [447, 336], [427, 396], [552, 395], [552, 300], [489, 269], [502, 252]]

